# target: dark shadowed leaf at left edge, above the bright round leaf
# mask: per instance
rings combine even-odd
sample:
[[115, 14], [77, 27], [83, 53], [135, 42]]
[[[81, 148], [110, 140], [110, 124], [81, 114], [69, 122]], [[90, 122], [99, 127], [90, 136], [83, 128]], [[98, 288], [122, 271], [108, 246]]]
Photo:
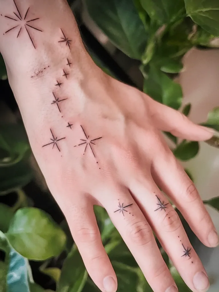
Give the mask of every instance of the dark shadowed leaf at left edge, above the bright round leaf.
[[33, 171], [23, 159], [12, 166], [0, 167], [0, 177], [0, 195], [5, 195], [27, 185], [33, 178]]

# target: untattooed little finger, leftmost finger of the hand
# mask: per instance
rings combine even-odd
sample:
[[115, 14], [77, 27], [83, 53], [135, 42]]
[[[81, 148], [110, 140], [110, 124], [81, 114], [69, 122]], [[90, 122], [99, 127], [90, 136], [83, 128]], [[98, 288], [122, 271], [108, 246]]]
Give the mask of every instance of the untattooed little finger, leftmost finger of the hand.
[[102, 292], [116, 292], [117, 277], [102, 245], [93, 204], [86, 198], [80, 201], [65, 212], [72, 236], [94, 283]]

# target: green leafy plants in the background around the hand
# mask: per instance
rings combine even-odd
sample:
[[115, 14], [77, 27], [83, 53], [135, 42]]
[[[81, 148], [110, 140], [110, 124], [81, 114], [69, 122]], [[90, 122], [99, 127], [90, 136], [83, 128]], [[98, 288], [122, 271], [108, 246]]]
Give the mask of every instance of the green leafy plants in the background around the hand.
[[[182, 58], [192, 47], [207, 49], [217, 43], [219, 2], [86, 0], [85, 5], [112, 43], [140, 61], [139, 70], [144, 76], [142, 90], [165, 105], [181, 109], [183, 93], [174, 81], [175, 74], [183, 70]], [[98, 58], [94, 60], [101, 66]], [[112, 74], [107, 68], [102, 69]], [[7, 78], [1, 55], [0, 78]], [[188, 116], [190, 109], [187, 104], [182, 112]], [[205, 126], [219, 131], [219, 107], [209, 112]], [[198, 142], [179, 142], [170, 133], [165, 134], [173, 141], [173, 153], [181, 161], [198, 154]], [[215, 147], [219, 144], [215, 137], [207, 142]], [[51, 215], [34, 207], [31, 196], [25, 193], [25, 186], [34, 177], [30, 155], [22, 123], [1, 122], [0, 196], [16, 199], [13, 205], [0, 203], [0, 292], [99, 291], [86, 272], [66, 221], [56, 223]], [[219, 211], [219, 197], [204, 203]], [[106, 211], [95, 206], [95, 214], [103, 244], [117, 273], [118, 291], [152, 291]], [[179, 215], [191, 239], [194, 234]], [[157, 243], [179, 291], [190, 291]], [[36, 265], [41, 275], [53, 283], [53, 290], [34, 282], [32, 268]]]

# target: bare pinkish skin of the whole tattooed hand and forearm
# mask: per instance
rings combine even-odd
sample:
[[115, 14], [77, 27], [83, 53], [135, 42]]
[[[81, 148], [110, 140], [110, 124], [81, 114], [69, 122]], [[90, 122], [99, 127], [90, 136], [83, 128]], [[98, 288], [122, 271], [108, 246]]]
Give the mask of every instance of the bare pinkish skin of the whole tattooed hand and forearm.
[[[181, 211], [206, 246], [218, 244], [209, 234], [215, 227], [199, 194], [161, 135], [169, 131], [188, 140], [207, 140], [211, 129], [189, 119], [149, 96], [109, 77], [91, 60], [66, 1], [17, 0], [24, 14], [28, 7], [34, 25], [33, 47], [27, 33], [10, 29], [4, 15], [16, 11], [12, 0], [0, 0], [0, 51], [18, 102], [29, 141], [48, 187], [62, 209], [88, 273], [101, 291], [115, 292], [117, 277], [102, 245], [93, 206], [103, 206], [155, 292], [172, 292], [176, 284], [154, 239], [165, 251], [189, 288], [194, 276], [206, 271], [192, 248], [182, 223], [159, 187]], [[22, 22], [24, 23], [24, 22]], [[70, 49], [58, 43], [60, 29], [72, 40]], [[67, 58], [72, 62], [68, 67]], [[44, 69], [45, 68], [45, 69]], [[67, 78], [63, 69], [69, 73]], [[57, 81], [62, 85], [56, 86]], [[59, 103], [56, 98], [65, 99]], [[72, 128], [67, 127], [68, 123]], [[82, 140], [102, 137], [88, 145]], [[62, 139], [58, 147], [51, 143]], [[82, 140], [80, 140], [82, 139]], [[77, 146], [77, 147], [74, 147]], [[84, 155], [83, 155], [84, 154]], [[97, 163], [98, 162], [98, 163]], [[166, 205], [159, 209], [159, 200]], [[115, 212], [128, 206], [123, 213]], [[216, 235], [215, 235], [216, 236]], [[190, 257], [183, 256], [191, 248]], [[112, 277], [110, 284], [109, 278]], [[207, 277], [207, 276], [206, 276]], [[105, 280], [104, 280], [105, 279]], [[108, 287], [106, 285], [108, 281]], [[175, 290], [177, 291], [177, 290]]]

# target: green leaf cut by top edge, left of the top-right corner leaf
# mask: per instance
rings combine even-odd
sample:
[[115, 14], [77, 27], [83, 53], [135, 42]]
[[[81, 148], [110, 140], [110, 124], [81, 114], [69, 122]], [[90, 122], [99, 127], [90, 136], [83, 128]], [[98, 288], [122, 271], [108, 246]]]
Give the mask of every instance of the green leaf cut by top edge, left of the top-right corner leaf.
[[150, 18], [160, 24], [174, 22], [185, 15], [183, 0], [140, 0]]

